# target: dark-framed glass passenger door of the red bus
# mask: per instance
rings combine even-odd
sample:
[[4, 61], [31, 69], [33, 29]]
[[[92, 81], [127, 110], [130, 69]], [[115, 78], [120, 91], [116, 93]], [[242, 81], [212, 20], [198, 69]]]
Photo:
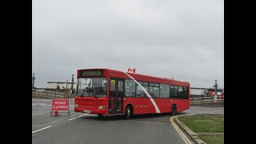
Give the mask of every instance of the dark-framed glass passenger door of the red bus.
[[117, 78], [111, 78], [109, 114], [122, 114], [123, 98], [124, 81]]

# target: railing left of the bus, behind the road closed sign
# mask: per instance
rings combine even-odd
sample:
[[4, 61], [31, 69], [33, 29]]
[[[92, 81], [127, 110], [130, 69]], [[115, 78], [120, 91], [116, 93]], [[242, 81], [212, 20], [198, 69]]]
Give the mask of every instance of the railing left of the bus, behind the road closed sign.
[[72, 98], [70, 90], [32, 88], [32, 98]]

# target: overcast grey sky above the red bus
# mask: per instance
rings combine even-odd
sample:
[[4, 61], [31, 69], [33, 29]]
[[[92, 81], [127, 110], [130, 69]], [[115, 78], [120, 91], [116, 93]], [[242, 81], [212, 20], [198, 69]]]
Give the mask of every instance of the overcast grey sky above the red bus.
[[78, 69], [129, 67], [224, 87], [223, 0], [33, 0], [32, 38], [37, 87]]

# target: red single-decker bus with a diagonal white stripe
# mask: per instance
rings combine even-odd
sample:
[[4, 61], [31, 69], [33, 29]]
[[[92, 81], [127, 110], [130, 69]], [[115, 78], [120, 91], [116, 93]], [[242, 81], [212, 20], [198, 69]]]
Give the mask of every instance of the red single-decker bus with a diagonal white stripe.
[[107, 115], [176, 114], [190, 108], [190, 83], [109, 69], [78, 70], [74, 111]]

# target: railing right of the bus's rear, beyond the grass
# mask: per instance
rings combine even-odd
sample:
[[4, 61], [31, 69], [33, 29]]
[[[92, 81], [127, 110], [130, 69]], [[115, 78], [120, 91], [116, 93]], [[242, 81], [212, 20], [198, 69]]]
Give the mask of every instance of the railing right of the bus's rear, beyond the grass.
[[208, 97], [192, 97], [190, 98], [190, 105], [201, 105], [201, 104], [213, 104], [213, 103], [224, 103], [224, 98], [221, 96], [208, 96]]

